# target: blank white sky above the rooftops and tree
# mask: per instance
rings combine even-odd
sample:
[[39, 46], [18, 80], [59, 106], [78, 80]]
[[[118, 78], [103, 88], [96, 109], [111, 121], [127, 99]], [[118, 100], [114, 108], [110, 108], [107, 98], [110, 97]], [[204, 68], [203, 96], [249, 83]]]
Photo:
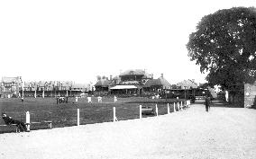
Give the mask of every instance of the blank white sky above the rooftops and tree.
[[170, 84], [206, 83], [187, 57], [188, 36], [209, 13], [255, 0], [0, 1], [0, 77], [96, 83], [145, 69]]

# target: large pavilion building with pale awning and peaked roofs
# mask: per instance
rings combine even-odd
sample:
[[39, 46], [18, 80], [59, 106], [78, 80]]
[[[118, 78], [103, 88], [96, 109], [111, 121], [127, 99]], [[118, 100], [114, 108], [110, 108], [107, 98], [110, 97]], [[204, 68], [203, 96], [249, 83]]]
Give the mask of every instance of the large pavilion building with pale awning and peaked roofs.
[[163, 74], [153, 79], [153, 75], [142, 69], [129, 69], [112, 79], [98, 79], [95, 84], [96, 95], [118, 94], [126, 96], [162, 93], [170, 88]]

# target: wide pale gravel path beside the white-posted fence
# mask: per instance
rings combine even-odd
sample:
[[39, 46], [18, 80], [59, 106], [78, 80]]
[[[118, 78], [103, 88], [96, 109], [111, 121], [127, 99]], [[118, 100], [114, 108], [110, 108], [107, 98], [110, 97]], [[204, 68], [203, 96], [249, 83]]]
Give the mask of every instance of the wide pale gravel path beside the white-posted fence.
[[0, 135], [1, 159], [256, 158], [256, 110], [197, 103], [169, 115]]

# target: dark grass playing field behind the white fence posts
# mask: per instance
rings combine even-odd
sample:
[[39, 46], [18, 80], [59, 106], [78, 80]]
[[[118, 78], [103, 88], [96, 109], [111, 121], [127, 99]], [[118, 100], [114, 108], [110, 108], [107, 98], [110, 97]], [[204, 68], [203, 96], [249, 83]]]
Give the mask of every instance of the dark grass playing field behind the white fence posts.
[[[179, 100], [179, 102], [185, 100]], [[113, 121], [113, 107], [115, 107], [118, 120], [138, 119], [140, 118], [140, 105], [153, 106], [158, 105], [159, 115], [167, 114], [167, 103], [169, 103], [170, 112], [173, 111], [173, 102], [176, 99], [149, 99], [142, 97], [114, 98], [104, 97], [102, 103], [98, 103], [96, 97], [92, 98], [92, 103], [87, 103], [87, 98], [69, 98], [68, 103], [56, 103], [55, 98], [25, 98], [24, 102], [18, 98], [0, 99], [0, 111], [5, 111], [8, 116], [25, 122], [25, 111], [29, 110], [31, 122], [40, 122], [42, 120], [51, 120], [53, 128], [70, 127], [77, 125], [77, 109], [80, 110], [80, 125], [93, 124], [99, 122]], [[143, 116], [151, 117], [151, 116]], [[5, 124], [0, 120], [0, 125]], [[47, 124], [32, 124], [31, 129], [47, 128]], [[14, 132], [12, 127], [0, 127], [0, 133]]]

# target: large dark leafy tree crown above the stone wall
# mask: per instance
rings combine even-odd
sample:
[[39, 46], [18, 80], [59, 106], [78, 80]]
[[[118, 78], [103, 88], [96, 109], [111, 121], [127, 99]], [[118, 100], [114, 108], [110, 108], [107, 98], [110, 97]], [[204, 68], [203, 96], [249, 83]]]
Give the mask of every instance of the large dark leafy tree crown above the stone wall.
[[233, 7], [204, 16], [187, 43], [190, 60], [210, 85], [233, 90], [256, 81], [256, 9]]

